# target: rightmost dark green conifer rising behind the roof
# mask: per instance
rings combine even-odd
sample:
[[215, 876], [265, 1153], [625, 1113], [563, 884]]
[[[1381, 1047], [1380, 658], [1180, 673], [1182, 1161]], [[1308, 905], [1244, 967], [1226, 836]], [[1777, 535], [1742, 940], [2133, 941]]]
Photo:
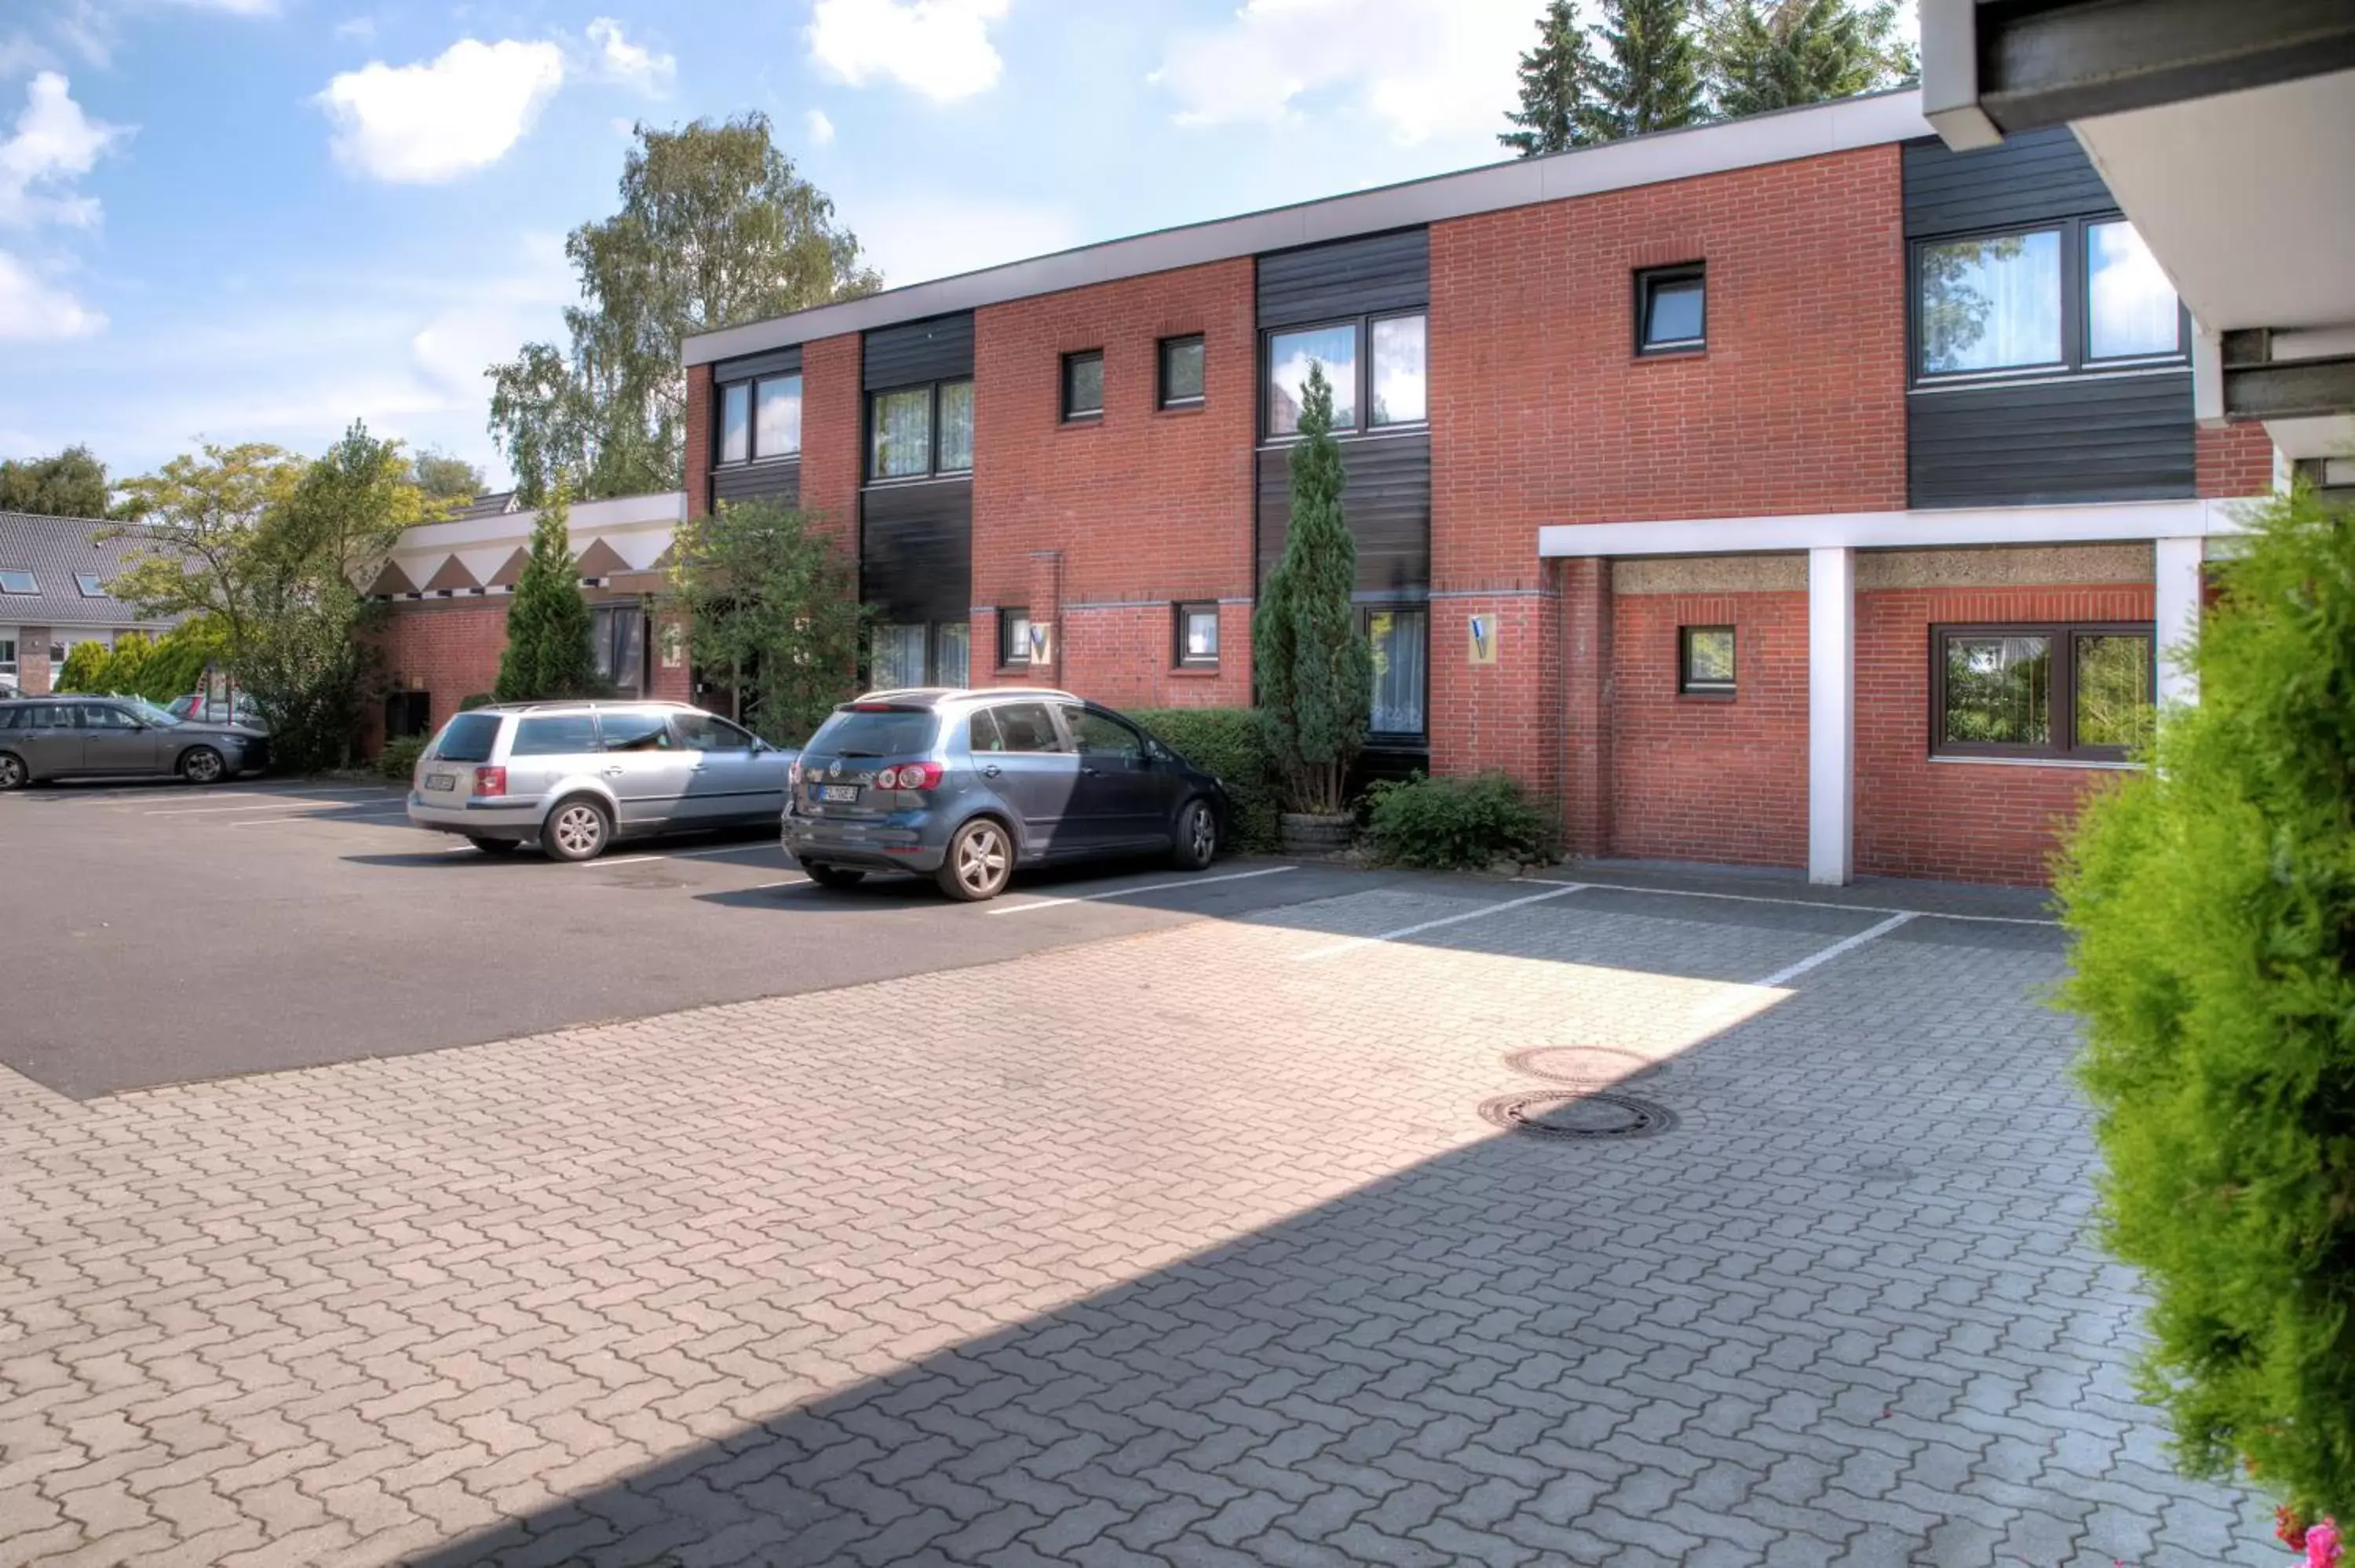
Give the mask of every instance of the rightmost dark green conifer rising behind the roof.
[[1919, 73], [1896, 0], [1719, 0], [1705, 24], [1710, 97], [1724, 118], [1893, 87]]

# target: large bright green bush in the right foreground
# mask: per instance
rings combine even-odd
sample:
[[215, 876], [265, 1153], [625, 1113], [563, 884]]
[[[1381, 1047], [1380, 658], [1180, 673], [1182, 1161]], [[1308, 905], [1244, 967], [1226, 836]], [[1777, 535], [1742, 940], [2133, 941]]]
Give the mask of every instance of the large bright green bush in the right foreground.
[[[2355, 1514], [2355, 513], [2216, 563], [2200, 706], [2058, 866], [2108, 1245], [2152, 1295], [2178, 1462]], [[2176, 633], [2162, 626], [2162, 633]]]

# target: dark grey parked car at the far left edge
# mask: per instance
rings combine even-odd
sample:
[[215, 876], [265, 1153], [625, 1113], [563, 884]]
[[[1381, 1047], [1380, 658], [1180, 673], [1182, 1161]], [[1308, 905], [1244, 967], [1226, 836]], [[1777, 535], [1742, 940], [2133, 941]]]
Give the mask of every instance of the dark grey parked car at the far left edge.
[[268, 737], [172, 718], [139, 697], [0, 702], [0, 789], [42, 779], [179, 775], [219, 784], [268, 763]]

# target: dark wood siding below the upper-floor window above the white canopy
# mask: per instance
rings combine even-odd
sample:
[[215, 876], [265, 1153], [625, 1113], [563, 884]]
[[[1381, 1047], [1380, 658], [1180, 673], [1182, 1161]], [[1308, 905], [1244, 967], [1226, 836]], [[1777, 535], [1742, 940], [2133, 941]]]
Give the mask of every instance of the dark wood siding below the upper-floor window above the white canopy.
[[2193, 494], [2193, 377], [2079, 377], [1905, 400], [1912, 506]]

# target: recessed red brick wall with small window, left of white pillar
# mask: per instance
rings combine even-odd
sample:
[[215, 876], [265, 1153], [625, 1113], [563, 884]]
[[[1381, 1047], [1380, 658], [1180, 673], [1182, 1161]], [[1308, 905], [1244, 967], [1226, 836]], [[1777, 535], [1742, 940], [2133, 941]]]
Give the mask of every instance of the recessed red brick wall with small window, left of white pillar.
[[[1806, 593], [1611, 603], [1611, 852], [1806, 864]], [[1733, 626], [1733, 699], [1677, 692], [1677, 629]]]

